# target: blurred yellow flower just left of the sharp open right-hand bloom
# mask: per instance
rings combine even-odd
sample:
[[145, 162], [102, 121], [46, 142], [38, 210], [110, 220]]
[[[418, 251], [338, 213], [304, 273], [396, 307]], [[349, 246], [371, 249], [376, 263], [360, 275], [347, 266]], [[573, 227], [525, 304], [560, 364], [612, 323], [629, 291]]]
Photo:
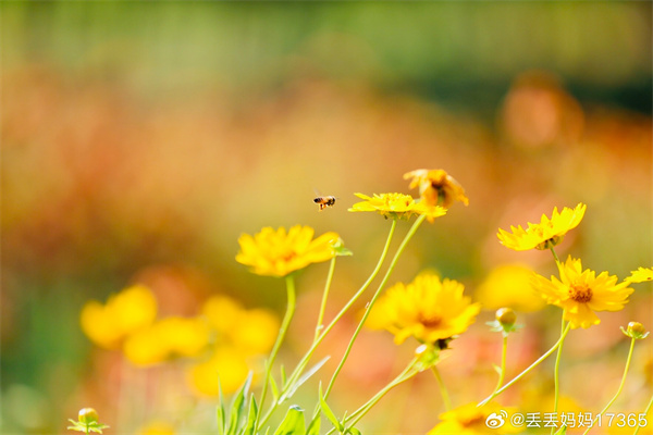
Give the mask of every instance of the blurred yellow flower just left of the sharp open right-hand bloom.
[[537, 311], [544, 307], [544, 301], [532, 289], [532, 275], [533, 271], [525, 265], [500, 265], [481, 283], [476, 296], [484, 309], [509, 307], [520, 312]]

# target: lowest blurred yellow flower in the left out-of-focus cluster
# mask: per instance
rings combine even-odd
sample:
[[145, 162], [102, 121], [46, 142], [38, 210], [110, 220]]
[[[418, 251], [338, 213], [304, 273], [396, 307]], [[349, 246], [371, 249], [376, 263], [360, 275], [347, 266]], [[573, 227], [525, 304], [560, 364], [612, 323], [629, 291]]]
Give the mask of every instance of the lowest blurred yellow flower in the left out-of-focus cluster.
[[204, 396], [218, 396], [236, 391], [247, 378], [249, 366], [242, 352], [235, 348], [221, 347], [205, 362], [195, 364], [188, 371], [193, 388]]

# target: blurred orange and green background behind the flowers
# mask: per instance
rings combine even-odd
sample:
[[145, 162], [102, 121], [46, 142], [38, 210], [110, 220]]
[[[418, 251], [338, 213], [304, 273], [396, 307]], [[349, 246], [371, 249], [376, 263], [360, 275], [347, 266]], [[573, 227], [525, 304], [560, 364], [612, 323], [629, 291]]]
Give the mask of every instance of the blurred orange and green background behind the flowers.
[[[354, 251], [338, 261], [333, 314], [389, 227], [348, 213], [353, 194], [408, 192], [415, 169], [446, 170], [470, 204], [422, 227], [392, 282], [434, 269], [481, 298], [496, 266], [554, 273], [549, 252], [508, 251], [496, 229], [578, 202], [588, 211], [560, 257], [620, 278], [653, 265], [650, 2], [4, 1], [0, 13], [3, 433], [64, 433], [84, 406], [113, 433], [155, 420], [209, 431], [214, 399], [182, 382], [183, 361], [138, 369], [97, 348], [79, 327], [85, 302], [144, 283], [162, 314], [195, 315], [211, 295], [281, 314], [283, 282], [237, 264], [236, 240], [306, 224]], [[336, 206], [318, 212], [316, 189]], [[310, 339], [326, 270], [298, 279], [286, 364]], [[618, 384], [618, 326], [653, 327], [651, 284], [636, 288], [626, 310], [567, 340], [563, 394], [578, 409], [596, 412]], [[340, 359], [356, 315], [322, 355]], [[456, 403], [494, 385], [491, 318], [442, 363]], [[555, 340], [559, 312], [520, 321], [514, 374]], [[645, 341], [618, 409], [650, 397]], [[334, 409], [362, 403], [412, 350], [365, 332]], [[535, 409], [551, 382], [542, 371], [505, 401]], [[310, 388], [297, 397], [307, 408]], [[434, 380], [418, 376], [361, 428], [424, 433], [440, 412]]]

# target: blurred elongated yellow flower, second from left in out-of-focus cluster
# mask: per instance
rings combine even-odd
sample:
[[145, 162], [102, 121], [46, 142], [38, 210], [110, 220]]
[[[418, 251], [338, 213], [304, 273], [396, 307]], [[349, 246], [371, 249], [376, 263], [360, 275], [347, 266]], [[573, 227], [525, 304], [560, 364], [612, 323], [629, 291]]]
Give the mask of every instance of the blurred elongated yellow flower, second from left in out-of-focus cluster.
[[131, 335], [123, 350], [132, 363], [151, 365], [173, 357], [196, 357], [208, 343], [204, 320], [172, 316]]

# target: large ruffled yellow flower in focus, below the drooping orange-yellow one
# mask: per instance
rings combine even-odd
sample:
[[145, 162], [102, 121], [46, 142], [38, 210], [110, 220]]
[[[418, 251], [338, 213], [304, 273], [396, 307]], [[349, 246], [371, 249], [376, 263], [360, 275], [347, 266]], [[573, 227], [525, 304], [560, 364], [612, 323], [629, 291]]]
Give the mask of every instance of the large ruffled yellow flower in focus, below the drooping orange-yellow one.
[[464, 333], [480, 311], [480, 303], [471, 303], [463, 291], [456, 281], [421, 273], [385, 293], [372, 309], [370, 325], [393, 333], [397, 344], [409, 336], [429, 344], [451, 338]]

